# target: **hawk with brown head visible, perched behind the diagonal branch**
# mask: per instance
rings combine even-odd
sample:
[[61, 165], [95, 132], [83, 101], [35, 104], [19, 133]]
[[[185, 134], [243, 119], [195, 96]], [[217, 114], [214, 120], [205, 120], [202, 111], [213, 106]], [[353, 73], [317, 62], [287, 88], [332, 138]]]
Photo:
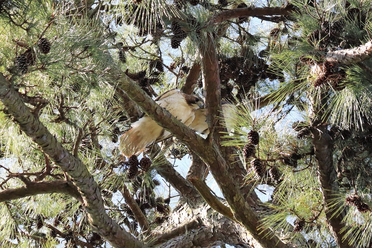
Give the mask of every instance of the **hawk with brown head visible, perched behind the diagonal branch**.
[[[186, 126], [189, 126], [194, 120], [195, 110], [204, 106], [200, 97], [187, 95], [177, 89], [161, 94], [155, 99], [155, 102]], [[147, 146], [172, 136], [170, 132], [144, 114], [136, 122], [133, 122], [131, 127], [119, 139], [119, 148], [126, 157], [132, 154], [138, 155]]]

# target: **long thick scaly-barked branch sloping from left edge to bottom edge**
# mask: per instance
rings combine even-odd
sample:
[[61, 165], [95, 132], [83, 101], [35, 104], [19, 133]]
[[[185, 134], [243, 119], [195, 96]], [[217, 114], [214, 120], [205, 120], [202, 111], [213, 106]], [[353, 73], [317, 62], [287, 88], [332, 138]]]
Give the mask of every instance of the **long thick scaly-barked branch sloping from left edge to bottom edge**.
[[84, 210], [92, 229], [108, 240], [113, 247], [145, 247], [107, 215], [97, 183], [86, 166], [79, 158], [71, 155], [38, 117], [30, 112], [3, 74], [0, 74], [0, 99], [19, 123], [20, 129], [40, 145], [42, 151], [73, 179], [83, 197]]

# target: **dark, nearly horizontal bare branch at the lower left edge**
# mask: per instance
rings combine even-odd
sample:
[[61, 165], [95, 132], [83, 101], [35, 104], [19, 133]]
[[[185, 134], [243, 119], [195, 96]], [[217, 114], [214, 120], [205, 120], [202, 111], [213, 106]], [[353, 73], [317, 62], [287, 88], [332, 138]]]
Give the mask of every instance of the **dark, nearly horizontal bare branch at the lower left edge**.
[[29, 182], [25, 187], [5, 189], [0, 191], [0, 202], [16, 200], [38, 194], [62, 193], [76, 198], [82, 202], [81, 195], [72, 183], [64, 180]]

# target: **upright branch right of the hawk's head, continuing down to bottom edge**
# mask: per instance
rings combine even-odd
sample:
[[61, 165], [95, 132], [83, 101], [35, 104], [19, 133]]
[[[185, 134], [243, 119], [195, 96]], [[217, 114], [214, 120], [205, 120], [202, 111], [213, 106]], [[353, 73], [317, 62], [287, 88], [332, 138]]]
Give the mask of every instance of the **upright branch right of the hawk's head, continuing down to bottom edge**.
[[[250, 207], [250, 204], [254, 204], [249, 195], [251, 186], [242, 190], [240, 185], [244, 183], [242, 174], [234, 173], [235, 178], [232, 176], [233, 171], [241, 171], [240, 167], [235, 164], [237, 158], [230, 156], [230, 154], [233, 154], [233, 148], [219, 147], [219, 131], [222, 128], [218, 128], [221, 125], [219, 125], [219, 119], [216, 118], [221, 107], [217, 52], [212, 34], [207, 33], [206, 41], [200, 43], [207, 121], [210, 126], [209, 130], [211, 130], [208, 135], [208, 142], [210, 142], [212, 149], [202, 152], [194, 151], [211, 169], [231, 212], [234, 213], [234, 218], [254, 236], [256, 241], [265, 248], [273, 247], [273, 244], [276, 244], [276, 247], [288, 247], [272, 231], [260, 230], [262, 222]], [[213, 128], [214, 131], [212, 132]]]

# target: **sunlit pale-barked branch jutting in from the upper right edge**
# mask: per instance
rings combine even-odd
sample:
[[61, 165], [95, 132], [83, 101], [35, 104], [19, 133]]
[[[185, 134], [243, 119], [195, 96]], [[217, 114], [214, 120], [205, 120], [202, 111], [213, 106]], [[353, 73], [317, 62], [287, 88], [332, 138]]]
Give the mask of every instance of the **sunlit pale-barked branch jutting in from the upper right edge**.
[[372, 40], [356, 48], [342, 49], [327, 52], [325, 60], [337, 61], [340, 64], [355, 64], [372, 57]]

